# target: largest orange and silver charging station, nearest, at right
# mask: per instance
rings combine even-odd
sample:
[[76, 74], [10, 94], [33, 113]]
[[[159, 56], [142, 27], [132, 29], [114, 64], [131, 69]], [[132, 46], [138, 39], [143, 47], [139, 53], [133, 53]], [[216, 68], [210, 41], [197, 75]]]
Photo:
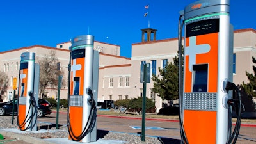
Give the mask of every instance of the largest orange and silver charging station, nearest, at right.
[[[232, 133], [233, 28], [229, 0], [196, 1], [179, 20], [179, 54], [184, 30], [183, 86], [179, 85], [180, 134], [183, 143], [236, 143]], [[181, 55], [179, 56], [181, 58]], [[179, 60], [181, 63], [181, 60]], [[180, 64], [181, 65], [181, 64]], [[180, 70], [181, 70], [181, 66]], [[180, 71], [181, 76], [181, 71]], [[180, 77], [179, 76], [179, 77]], [[182, 83], [182, 79], [179, 79]], [[237, 109], [241, 113], [241, 97]], [[238, 112], [238, 113], [239, 113]], [[240, 115], [240, 114], [239, 114]], [[232, 133], [232, 134], [231, 134]]]

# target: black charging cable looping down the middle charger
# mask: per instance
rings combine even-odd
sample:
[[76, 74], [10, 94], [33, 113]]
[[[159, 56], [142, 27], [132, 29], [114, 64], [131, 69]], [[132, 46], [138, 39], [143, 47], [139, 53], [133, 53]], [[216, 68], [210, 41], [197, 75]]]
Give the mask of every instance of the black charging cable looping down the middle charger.
[[[81, 132], [81, 134], [79, 136], [76, 136], [74, 134], [74, 131], [72, 130], [72, 126], [70, 123], [70, 115], [68, 114], [68, 133], [69, 133], [70, 138], [72, 138], [72, 140], [74, 140], [74, 141], [81, 141], [89, 132], [92, 132], [93, 127], [95, 127], [95, 124], [96, 124], [96, 118], [97, 118], [96, 102], [93, 98], [93, 93], [90, 88], [87, 89], [87, 94], [90, 95], [90, 97], [91, 97], [91, 99], [88, 100], [88, 102], [91, 104], [91, 109], [90, 109], [90, 114], [88, 116], [88, 120], [83, 129], [83, 132]], [[90, 118], [91, 116], [92, 116], [92, 118]]]

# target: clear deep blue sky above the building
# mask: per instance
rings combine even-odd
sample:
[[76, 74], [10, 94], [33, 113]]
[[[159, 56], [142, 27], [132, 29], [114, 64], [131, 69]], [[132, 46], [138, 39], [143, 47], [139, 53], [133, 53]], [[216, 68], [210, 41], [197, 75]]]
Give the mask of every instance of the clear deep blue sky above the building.
[[[179, 11], [193, 0], [8, 0], [0, 4], [0, 52], [68, 42], [90, 34], [95, 40], [121, 46], [131, 57], [131, 45], [141, 42], [141, 29], [157, 29], [157, 40], [177, 37]], [[256, 29], [256, 1], [230, 0], [234, 29]]]

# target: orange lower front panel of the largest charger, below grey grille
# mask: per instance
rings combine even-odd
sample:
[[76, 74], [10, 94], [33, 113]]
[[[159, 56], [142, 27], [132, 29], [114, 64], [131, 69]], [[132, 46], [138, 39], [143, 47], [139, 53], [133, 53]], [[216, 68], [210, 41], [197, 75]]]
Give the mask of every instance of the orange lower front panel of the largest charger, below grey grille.
[[184, 110], [184, 129], [189, 144], [216, 143], [216, 111]]

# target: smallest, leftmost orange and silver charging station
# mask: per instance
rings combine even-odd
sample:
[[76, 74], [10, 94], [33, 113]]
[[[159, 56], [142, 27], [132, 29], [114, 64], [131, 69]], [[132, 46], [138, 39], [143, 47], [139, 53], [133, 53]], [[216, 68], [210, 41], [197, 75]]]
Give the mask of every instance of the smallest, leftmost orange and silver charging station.
[[20, 56], [17, 115], [17, 125], [21, 131], [37, 131], [39, 72], [39, 64], [35, 63], [35, 53], [22, 53]]

